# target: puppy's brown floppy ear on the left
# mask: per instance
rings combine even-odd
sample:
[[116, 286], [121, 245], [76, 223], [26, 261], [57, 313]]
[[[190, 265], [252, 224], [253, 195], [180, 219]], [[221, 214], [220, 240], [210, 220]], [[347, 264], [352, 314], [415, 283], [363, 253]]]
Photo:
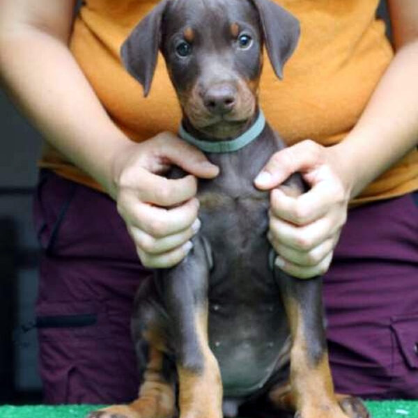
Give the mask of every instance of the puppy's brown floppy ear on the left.
[[144, 88], [144, 96], [150, 91], [158, 49], [161, 40], [161, 20], [167, 0], [160, 1], [151, 12], [134, 27], [121, 47], [122, 63], [127, 71]]

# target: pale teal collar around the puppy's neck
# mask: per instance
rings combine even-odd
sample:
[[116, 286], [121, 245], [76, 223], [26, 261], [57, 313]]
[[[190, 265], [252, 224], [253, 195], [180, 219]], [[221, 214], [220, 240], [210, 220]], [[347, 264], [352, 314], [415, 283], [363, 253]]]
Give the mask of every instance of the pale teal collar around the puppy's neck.
[[246, 145], [254, 141], [258, 137], [265, 127], [265, 118], [261, 110], [258, 111], [257, 120], [251, 125], [249, 130], [244, 132], [238, 138], [231, 139], [229, 141], [203, 141], [196, 139], [193, 135], [185, 131], [183, 123], [180, 125], [178, 135], [183, 138], [189, 144], [192, 144], [206, 153], [233, 153], [244, 148]]

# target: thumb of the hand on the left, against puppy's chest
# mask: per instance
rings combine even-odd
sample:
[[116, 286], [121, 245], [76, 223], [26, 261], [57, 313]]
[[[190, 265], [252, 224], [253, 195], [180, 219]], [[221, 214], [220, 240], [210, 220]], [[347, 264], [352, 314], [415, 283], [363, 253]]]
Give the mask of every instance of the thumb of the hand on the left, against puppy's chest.
[[171, 132], [162, 132], [155, 140], [157, 157], [168, 159], [196, 177], [214, 178], [218, 175], [219, 167], [212, 164], [201, 150]]

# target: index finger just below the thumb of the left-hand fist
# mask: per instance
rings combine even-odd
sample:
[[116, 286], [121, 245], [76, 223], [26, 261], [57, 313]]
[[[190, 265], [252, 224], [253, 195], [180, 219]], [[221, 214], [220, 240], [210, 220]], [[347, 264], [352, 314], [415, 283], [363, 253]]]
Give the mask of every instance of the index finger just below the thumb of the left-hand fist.
[[137, 197], [146, 203], [157, 206], [175, 206], [192, 199], [196, 195], [197, 180], [194, 176], [169, 179], [144, 170], [139, 178]]

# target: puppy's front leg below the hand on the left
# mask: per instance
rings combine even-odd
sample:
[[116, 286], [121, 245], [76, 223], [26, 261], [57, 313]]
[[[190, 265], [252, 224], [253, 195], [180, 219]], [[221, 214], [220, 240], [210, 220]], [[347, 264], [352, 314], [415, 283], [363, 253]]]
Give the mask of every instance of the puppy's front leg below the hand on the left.
[[222, 418], [222, 381], [208, 343], [209, 265], [200, 240], [183, 262], [163, 273], [173, 327], [181, 418]]

